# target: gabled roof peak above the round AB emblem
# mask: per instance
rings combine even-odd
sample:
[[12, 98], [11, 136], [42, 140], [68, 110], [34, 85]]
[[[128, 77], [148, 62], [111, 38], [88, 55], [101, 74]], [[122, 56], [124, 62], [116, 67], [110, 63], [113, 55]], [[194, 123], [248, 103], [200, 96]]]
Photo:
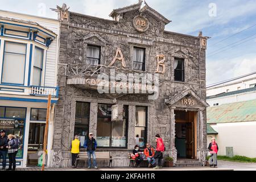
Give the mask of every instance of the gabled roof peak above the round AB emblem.
[[134, 11], [134, 10], [140, 10], [141, 13], [144, 13], [144, 12], [150, 13], [152, 16], [155, 16], [156, 18], [162, 20], [165, 24], [168, 24], [168, 23], [171, 22], [171, 20], [168, 20], [163, 15], [158, 13], [156, 10], [154, 10], [150, 6], [148, 6], [146, 2], [144, 2], [145, 6], [143, 6], [142, 9], [141, 9], [142, 3], [143, 2], [139, 2], [139, 3], [134, 4], [134, 5], [122, 7], [122, 8], [119, 8], [119, 9], [114, 9], [112, 11], [112, 13], [110, 13], [109, 16], [114, 18], [114, 16], [117, 16], [118, 14], [126, 13], [126, 12], [129, 12], [129, 11]]

